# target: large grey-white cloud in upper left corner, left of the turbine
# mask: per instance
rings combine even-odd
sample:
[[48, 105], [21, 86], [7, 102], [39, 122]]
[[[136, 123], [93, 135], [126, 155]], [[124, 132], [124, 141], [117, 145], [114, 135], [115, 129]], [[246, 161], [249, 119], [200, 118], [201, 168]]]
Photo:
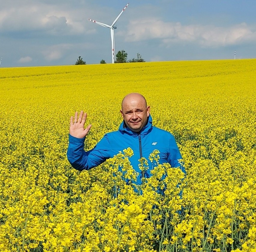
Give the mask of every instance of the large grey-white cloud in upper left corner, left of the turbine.
[[[88, 11], [88, 10], [87, 10]], [[88, 28], [89, 29], [88, 29]], [[10, 1], [1, 6], [0, 29], [2, 32], [40, 31], [51, 35], [91, 33], [84, 10], [55, 1]]]

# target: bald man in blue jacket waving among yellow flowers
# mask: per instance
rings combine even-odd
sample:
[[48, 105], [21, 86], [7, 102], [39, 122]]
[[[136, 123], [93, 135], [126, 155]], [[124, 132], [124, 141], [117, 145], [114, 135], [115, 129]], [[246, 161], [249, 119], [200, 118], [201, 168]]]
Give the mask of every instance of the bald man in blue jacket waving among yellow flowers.
[[[84, 151], [84, 140], [92, 125], [84, 128], [87, 113], [81, 111], [70, 118], [69, 147], [67, 157], [70, 164], [77, 170], [89, 170], [103, 163], [106, 159], [112, 158], [119, 151], [131, 147], [134, 155], [130, 162], [139, 177], [138, 184], [141, 184], [142, 173], [139, 170], [139, 159], [148, 158], [154, 149], [160, 151], [159, 163], [169, 163], [171, 167], [181, 167], [186, 174], [184, 167], [178, 163], [181, 158], [175, 138], [167, 131], [152, 126], [150, 106], [145, 98], [138, 93], [126, 95], [122, 101], [120, 110], [123, 117], [119, 130], [105, 134], [102, 140], [90, 151]], [[74, 120], [74, 122], [73, 122]], [[148, 160], [148, 164], [151, 164]], [[149, 166], [150, 167], [150, 166]], [[150, 169], [145, 172], [145, 177], [150, 177]]]

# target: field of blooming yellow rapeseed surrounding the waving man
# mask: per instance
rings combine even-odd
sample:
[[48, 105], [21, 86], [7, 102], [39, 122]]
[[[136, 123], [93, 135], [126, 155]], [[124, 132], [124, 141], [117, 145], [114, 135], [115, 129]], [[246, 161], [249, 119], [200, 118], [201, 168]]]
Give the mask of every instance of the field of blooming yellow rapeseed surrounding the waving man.
[[[256, 251], [255, 66], [0, 68], [0, 251]], [[70, 116], [88, 113], [89, 150], [118, 129], [130, 92], [144, 95], [153, 125], [175, 136], [184, 180], [158, 166], [134, 190], [117, 165], [127, 167], [129, 149], [89, 171], [69, 164]]]

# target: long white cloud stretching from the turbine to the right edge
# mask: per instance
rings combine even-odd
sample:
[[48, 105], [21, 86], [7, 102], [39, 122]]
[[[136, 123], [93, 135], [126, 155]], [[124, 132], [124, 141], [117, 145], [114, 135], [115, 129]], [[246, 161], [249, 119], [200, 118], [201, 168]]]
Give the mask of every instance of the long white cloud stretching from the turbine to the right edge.
[[246, 23], [230, 27], [187, 25], [163, 22], [158, 19], [130, 21], [128, 31], [120, 32], [126, 41], [161, 39], [166, 45], [180, 41], [195, 42], [202, 46], [227, 46], [242, 42], [256, 42], [256, 32]]

